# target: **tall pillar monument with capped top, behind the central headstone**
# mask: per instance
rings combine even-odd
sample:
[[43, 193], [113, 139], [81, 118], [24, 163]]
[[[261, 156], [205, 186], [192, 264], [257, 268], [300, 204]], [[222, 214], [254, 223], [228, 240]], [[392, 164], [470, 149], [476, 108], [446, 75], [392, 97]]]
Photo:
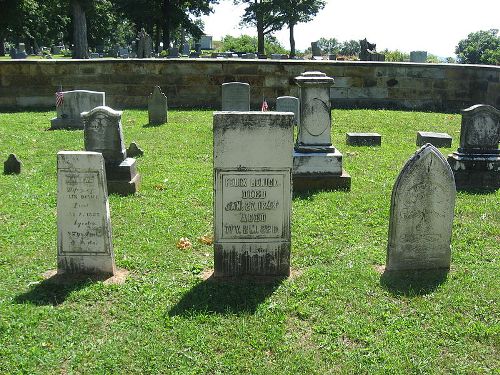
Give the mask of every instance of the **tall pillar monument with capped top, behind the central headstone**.
[[331, 141], [330, 87], [333, 78], [305, 72], [299, 86], [300, 123], [293, 153], [293, 189], [350, 189], [351, 176], [342, 168], [342, 154]]

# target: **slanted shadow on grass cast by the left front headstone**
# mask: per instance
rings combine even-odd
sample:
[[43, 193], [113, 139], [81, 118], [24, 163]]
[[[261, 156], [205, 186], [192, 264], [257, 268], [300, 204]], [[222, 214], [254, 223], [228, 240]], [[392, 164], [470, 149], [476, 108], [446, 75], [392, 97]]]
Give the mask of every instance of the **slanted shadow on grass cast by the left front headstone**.
[[34, 285], [26, 293], [18, 295], [14, 301], [20, 304], [31, 303], [38, 306], [57, 306], [63, 303], [72, 292], [83, 289], [94, 282], [104, 281], [108, 277], [80, 274], [61, 275], [56, 273]]

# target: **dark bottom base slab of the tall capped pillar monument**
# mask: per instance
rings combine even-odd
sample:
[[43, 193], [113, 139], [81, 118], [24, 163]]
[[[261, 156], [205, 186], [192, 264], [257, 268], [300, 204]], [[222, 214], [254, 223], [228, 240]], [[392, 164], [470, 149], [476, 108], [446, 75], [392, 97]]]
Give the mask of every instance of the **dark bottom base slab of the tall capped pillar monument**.
[[317, 190], [351, 190], [351, 176], [343, 169], [341, 174], [294, 174], [292, 180], [294, 193]]

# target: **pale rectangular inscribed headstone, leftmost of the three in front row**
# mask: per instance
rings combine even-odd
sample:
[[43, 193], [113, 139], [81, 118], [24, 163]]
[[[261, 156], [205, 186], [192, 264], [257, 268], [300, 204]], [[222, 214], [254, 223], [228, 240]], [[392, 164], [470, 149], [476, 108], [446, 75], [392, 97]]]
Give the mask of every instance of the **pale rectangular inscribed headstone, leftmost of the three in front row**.
[[104, 159], [57, 154], [57, 272], [115, 273]]

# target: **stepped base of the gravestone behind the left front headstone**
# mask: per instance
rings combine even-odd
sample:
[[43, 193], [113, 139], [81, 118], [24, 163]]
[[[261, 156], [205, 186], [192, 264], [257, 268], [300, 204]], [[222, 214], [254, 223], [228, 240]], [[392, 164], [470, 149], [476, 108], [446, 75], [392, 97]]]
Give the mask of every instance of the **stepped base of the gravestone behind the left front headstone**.
[[106, 164], [106, 179], [108, 194], [135, 194], [141, 183], [141, 175], [137, 173], [136, 160], [126, 158], [119, 165]]

